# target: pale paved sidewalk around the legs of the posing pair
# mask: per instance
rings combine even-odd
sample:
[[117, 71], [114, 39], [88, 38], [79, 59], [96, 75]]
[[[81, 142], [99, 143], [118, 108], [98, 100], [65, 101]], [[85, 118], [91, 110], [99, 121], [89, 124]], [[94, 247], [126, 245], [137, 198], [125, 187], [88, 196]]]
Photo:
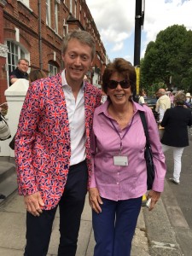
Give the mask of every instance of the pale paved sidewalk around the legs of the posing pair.
[[[21, 256], [25, 247], [26, 235], [26, 211], [22, 196], [10, 195], [6, 201], [0, 204], [0, 255]], [[137, 223], [136, 235], [132, 245], [131, 256], [148, 256], [148, 239], [145, 234], [143, 210]], [[49, 256], [56, 256], [59, 242], [59, 215], [56, 212], [53, 232], [49, 244]], [[77, 256], [92, 256], [95, 241], [91, 225], [91, 212], [86, 198], [84, 212], [82, 214], [79, 231]]]

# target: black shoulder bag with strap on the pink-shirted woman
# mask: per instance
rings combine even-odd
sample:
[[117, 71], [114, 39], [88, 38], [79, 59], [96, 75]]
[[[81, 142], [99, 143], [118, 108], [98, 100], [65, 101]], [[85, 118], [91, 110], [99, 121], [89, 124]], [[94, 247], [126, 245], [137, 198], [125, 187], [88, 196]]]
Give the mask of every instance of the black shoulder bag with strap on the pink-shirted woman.
[[154, 160], [153, 160], [153, 153], [151, 150], [151, 145], [149, 143], [149, 137], [148, 137], [148, 125], [145, 118], [145, 113], [143, 111], [139, 111], [140, 118], [142, 119], [143, 129], [145, 132], [146, 137], [146, 145], [145, 145], [145, 151], [144, 151], [144, 158], [146, 160], [146, 166], [147, 166], [147, 186], [148, 190], [152, 189], [153, 183], [154, 183]]

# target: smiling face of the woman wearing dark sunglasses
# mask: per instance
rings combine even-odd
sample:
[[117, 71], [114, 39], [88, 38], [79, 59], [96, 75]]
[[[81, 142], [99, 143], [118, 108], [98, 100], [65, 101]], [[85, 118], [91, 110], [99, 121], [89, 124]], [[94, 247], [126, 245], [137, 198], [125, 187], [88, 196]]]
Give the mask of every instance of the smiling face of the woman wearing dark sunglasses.
[[[115, 82], [111, 82], [112, 80], [121, 82], [125, 81], [125, 78], [120, 73], [115, 72], [111, 75], [108, 84], [115, 84]], [[124, 88], [124, 85], [126, 87], [128, 86], [128, 88]], [[113, 105], [125, 105], [129, 101], [130, 96], [132, 95], [131, 84], [129, 83], [129, 81], [125, 81], [122, 82], [122, 85], [117, 84], [116, 88], [114, 89], [108, 87], [107, 95], [110, 97]]]

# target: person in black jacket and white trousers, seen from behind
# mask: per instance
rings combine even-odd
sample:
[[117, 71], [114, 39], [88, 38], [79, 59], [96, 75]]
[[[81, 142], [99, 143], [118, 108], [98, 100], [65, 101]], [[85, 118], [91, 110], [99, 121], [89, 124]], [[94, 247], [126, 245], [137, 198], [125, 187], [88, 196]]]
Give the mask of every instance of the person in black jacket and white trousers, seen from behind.
[[181, 157], [183, 149], [189, 146], [188, 125], [192, 125], [191, 112], [188, 108], [183, 108], [186, 96], [179, 92], [174, 97], [174, 108], [166, 110], [160, 125], [165, 127], [164, 135], [161, 139], [163, 152], [173, 149], [174, 171], [173, 177], [169, 180], [177, 185], [180, 184]]

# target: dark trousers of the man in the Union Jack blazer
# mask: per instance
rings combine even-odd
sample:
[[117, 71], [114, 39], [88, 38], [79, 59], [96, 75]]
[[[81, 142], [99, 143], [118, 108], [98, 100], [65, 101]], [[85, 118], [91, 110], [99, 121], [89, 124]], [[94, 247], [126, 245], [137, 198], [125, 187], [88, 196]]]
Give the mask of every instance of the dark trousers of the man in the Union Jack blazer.
[[[75, 256], [79, 236], [80, 218], [87, 192], [87, 166], [85, 160], [70, 166], [65, 191], [59, 202], [60, 244], [58, 256]], [[56, 208], [44, 211], [39, 217], [26, 212], [26, 248], [24, 256], [45, 256], [55, 218]]]

